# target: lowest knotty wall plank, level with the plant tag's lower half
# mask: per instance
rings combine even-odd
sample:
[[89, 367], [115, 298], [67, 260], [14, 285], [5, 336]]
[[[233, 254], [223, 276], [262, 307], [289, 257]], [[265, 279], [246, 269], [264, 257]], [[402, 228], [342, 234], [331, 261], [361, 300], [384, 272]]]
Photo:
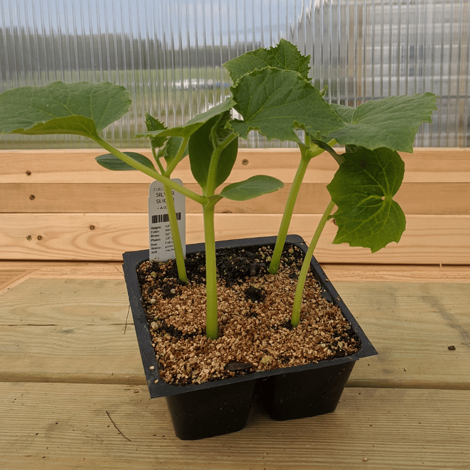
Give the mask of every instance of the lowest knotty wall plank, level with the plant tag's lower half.
[[[319, 214], [295, 214], [290, 232], [310, 241]], [[277, 234], [277, 214], [216, 214], [217, 240]], [[187, 214], [186, 241], [204, 240], [201, 214]], [[469, 215], [409, 215], [400, 244], [383, 250], [332, 245], [330, 220], [315, 256], [320, 262], [392, 264], [470, 264]], [[38, 238], [40, 237], [40, 239]], [[0, 214], [1, 259], [120, 261], [125, 251], [149, 247], [147, 215]]]

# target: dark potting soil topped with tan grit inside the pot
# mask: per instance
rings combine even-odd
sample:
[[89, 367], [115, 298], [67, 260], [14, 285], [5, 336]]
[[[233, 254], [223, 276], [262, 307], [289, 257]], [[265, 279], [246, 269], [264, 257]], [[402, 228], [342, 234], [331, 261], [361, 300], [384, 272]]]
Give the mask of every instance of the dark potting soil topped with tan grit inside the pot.
[[340, 309], [310, 273], [300, 323], [290, 323], [303, 252], [286, 245], [278, 274], [272, 247], [217, 250], [219, 336], [205, 335], [206, 257], [186, 258], [188, 283], [174, 261], [145, 261], [137, 271], [160, 378], [190, 385], [279, 367], [350, 356], [361, 349]]

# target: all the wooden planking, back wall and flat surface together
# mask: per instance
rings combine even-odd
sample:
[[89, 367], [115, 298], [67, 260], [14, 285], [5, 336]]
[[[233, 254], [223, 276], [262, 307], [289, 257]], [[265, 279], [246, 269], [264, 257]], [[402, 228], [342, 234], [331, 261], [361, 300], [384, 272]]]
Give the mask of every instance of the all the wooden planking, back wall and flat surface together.
[[[201, 441], [178, 440], [149, 398], [121, 273], [123, 252], [148, 248], [150, 179], [105, 170], [101, 153], [0, 151], [1, 470], [470, 469], [469, 150], [402, 155], [400, 244], [332, 245], [327, 223], [315, 256], [379, 352], [337, 410], [276, 422], [255, 403], [242, 431]], [[299, 157], [239, 154], [227, 183], [286, 186], [220, 202], [219, 240], [276, 233]], [[291, 233], [311, 239], [336, 167], [313, 159]], [[195, 189], [187, 159], [174, 176]], [[188, 202], [187, 243], [203, 240], [201, 219]]]

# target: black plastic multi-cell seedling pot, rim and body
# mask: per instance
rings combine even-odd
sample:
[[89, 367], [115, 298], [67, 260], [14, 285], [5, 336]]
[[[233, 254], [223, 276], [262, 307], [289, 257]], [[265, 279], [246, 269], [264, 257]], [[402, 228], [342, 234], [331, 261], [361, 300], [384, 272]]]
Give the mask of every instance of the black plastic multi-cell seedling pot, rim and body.
[[[246, 248], [274, 245], [275, 237], [247, 238], [216, 242], [216, 248]], [[297, 245], [304, 253], [307, 246], [298, 235], [289, 235], [287, 243]], [[204, 251], [203, 243], [188, 245], [186, 254]], [[259, 385], [261, 401], [271, 418], [277, 420], [308, 418], [335, 410], [344, 386], [360, 358], [377, 354], [365, 333], [344, 305], [318, 262], [313, 258], [311, 269], [321, 286], [323, 296], [337, 305], [351, 323], [362, 343], [353, 356], [253, 372], [199, 385], [175, 386], [160, 380], [152, 347], [147, 317], [142, 307], [137, 267], [149, 259], [149, 251], [123, 254], [124, 276], [142, 363], [151, 398], [166, 397], [176, 436], [184, 440], [201, 439], [239, 431], [248, 419], [255, 388]]]

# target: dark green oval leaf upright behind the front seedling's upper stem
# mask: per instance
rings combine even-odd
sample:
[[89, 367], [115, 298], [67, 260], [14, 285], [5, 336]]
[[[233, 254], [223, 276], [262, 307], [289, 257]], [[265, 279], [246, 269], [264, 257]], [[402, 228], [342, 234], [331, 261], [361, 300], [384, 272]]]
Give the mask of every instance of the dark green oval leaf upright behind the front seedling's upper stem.
[[[229, 111], [216, 115], [204, 123], [189, 139], [188, 150], [191, 171], [203, 190], [207, 187], [209, 168], [214, 151], [220, 142], [231, 133], [226, 128], [229, 119]], [[216, 135], [216, 142], [212, 139], [212, 133]], [[237, 152], [238, 139], [230, 142], [222, 150], [217, 162], [215, 188], [228, 178], [237, 159]]]

